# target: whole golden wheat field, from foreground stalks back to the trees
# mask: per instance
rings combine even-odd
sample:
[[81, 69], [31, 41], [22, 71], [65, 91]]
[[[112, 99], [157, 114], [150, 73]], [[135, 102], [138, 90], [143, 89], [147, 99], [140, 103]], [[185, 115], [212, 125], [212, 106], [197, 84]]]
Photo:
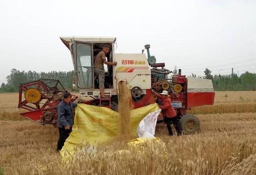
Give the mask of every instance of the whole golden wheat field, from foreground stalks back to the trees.
[[[255, 95], [217, 92], [214, 110], [210, 106], [192, 109], [201, 122], [198, 134], [168, 137], [161, 123], [156, 136], [163, 144], [147, 143], [142, 153], [115, 141], [67, 162], [55, 152], [58, 130], [24, 120], [18, 116], [18, 95], [0, 94], [0, 175], [254, 175], [256, 113], [251, 108]], [[234, 105], [239, 111], [232, 109]], [[119, 153], [121, 149], [130, 151]]]

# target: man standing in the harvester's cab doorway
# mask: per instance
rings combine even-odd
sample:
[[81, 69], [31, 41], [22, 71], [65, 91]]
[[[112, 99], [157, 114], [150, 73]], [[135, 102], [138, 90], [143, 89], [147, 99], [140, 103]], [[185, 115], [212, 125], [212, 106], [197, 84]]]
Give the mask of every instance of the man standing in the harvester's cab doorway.
[[116, 62], [110, 63], [106, 61], [106, 54], [109, 52], [109, 50], [110, 50], [110, 47], [108, 45], [104, 45], [102, 48], [102, 51], [98, 53], [94, 61], [94, 81], [96, 80], [97, 77], [99, 78], [100, 94], [102, 98], [106, 98], [104, 93], [104, 81], [105, 81], [104, 64], [110, 65], [110, 66], [117, 65]]

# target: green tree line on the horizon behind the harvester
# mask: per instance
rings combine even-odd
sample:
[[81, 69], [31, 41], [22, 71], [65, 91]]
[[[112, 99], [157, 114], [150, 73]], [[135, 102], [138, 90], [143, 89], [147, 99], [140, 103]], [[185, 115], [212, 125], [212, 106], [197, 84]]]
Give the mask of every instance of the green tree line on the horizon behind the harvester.
[[[205, 69], [204, 79], [211, 79], [214, 90], [256, 90], [256, 74], [246, 71], [242, 75], [212, 75], [210, 69]], [[192, 74], [192, 77], [196, 77]], [[72, 82], [74, 80], [74, 71], [51, 71], [51, 72], [36, 72], [36, 71], [19, 71], [12, 69], [10, 75], [6, 77], [7, 83], [2, 83], [0, 92], [18, 92], [20, 83], [26, 83], [38, 79], [57, 79], [60, 80], [63, 87], [72, 89]]]

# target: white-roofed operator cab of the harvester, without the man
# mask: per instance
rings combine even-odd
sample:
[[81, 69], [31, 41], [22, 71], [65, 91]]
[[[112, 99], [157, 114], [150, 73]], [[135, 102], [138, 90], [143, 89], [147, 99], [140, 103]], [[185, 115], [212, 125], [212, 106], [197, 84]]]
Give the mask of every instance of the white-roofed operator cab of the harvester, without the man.
[[[113, 62], [114, 37], [60, 37], [71, 52], [75, 77], [73, 87], [84, 96], [98, 95], [99, 84], [94, 81], [94, 59], [104, 45], [110, 47], [106, 61]], [[105, 88], [113, 90], [114, 71], [112, 66], [105, 66]], [[87, 91], [90, 93], [86, 93]]]

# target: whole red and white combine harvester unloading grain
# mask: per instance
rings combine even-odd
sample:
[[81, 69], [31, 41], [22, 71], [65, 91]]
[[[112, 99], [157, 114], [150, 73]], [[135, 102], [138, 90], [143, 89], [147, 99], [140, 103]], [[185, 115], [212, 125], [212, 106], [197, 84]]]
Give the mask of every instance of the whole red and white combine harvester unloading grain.
[[[161, 92], [167, 90], [172, 100], [182, 130], [187, 134], [196, 133], [200, 129], [198, 118], [186, 114], [186, 110], [195, 106], [212, 105], [215, 92], [212, 81], [181, 75], [170, 75], [172, 71], [165, 69], [165, 63], [156, 63], [150, 55], [150, 45], [145, 45], [147, 56], [143, 53], [114, 53], [115, 37], [60, 37], [71, 52], [74, 64], [74, 89], [80, 96], [87, 97], [84, 104], [104, 106], [112, 110], [118, 109], [118, 83], [126, 82], [132, 97], [134, 108], [140, 108], [161, 101], [152, 94], [152, 89]], [[117, 62], [117, 66], [105, 68], [105, 96], [102, 99], [98, 88], [98, 80], [94, 81], [94, 56], [104, 45], [110, 47], [106, 54], [108, 62]], [[19, 108], [29, 110], [21, 115], [38, 124], [56, 124], [57, 105], [60, 103], [64, 87], [58, 80], [42, 79], [20, 84]], [[24, 95], [22, 95], [24, 92]], [[73, 96], [75, 100], [78, 96]], [[162, 120], [162, 116], [158, 117]]]

